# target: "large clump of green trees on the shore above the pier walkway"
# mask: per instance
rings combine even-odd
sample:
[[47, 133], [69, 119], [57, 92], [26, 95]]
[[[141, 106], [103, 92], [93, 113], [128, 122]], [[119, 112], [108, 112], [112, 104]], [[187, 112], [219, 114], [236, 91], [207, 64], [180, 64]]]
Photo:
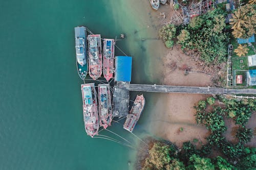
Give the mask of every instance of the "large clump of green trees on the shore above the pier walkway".
[[226, 60], [228, 35], [224, 32], [225, 13], [222, 10], [215, 9], [193, 17], [187, 26], [174, 29], [175, 27], [167, 25], [159, 30], [159, 36], [167, 47], [172, 47], [174, 38], [177, 37], [177, 43], [182, 45], [182, 48], [198, 50], [201, 53], [201, 60], [208, 64]]

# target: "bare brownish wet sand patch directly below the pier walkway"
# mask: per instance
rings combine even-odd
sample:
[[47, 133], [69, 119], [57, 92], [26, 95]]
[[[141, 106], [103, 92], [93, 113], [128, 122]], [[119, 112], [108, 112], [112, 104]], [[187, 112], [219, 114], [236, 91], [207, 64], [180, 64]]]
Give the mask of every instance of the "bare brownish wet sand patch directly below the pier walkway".
[[[206, 143], [205, 137], [209, 134], [204, 126], [196, 124], [195, 109], [199, 100], [206, 95], [198, 94], [161, 94], [151, 115], [151, 131], [158, 137], [172, 141], [178, 147], [182, 143], [195, 138], [199, 139], [197, 145]], [[183, 131], [180, 131], [183, 128]]]

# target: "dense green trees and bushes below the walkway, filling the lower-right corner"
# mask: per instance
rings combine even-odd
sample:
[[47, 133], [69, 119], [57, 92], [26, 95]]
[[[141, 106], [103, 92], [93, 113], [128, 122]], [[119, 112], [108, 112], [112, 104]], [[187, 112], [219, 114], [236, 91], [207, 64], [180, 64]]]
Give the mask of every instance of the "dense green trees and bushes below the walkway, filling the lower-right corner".
[[[187, 141], [179, 150], [174, 144], [155, 142], [144, 161], [143, 170], [256, 169], [256, 148], [244, 147], [244, 144], [253, 137], [252, 130], [246, 128], [245, 125], [251, 112], [256, 110], [256, 101], [226, 99], [221, 96], [217, 99], [210, 97], [200, 101], [195, 109], [197, 123], [204, 125], [210, 131], [207, 137], [208, 143], [198, 150], [193, 143]], [[236, 133], [238, 142], [235, 144], [226, 140], [222, 135], [226, 130], [224, 118], [232, 118], [239, 125]], [[212, 148], [222, 152], [223, 157], [208, 158]]]

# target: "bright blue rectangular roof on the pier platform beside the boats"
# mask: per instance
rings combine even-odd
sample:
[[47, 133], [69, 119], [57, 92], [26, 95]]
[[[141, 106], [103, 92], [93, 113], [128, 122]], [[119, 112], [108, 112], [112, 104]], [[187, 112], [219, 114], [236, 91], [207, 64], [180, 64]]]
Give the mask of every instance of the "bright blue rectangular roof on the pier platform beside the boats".
[[132, 57], [116, 56], [115, 80], [131, 82], [132, 79]]

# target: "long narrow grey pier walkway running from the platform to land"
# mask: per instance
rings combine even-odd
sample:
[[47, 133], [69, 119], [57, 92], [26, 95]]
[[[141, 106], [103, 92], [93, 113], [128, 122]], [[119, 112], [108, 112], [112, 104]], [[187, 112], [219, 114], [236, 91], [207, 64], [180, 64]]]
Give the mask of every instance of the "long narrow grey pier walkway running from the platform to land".
[[165, 93], [196, 93], [196, 94], [256, 94], [256, 89], [233, 89], [216, 87], [189, 87], [189, 86], [166, 86], [130, 84], [126, 86], [130, 91], [165, 92]]

